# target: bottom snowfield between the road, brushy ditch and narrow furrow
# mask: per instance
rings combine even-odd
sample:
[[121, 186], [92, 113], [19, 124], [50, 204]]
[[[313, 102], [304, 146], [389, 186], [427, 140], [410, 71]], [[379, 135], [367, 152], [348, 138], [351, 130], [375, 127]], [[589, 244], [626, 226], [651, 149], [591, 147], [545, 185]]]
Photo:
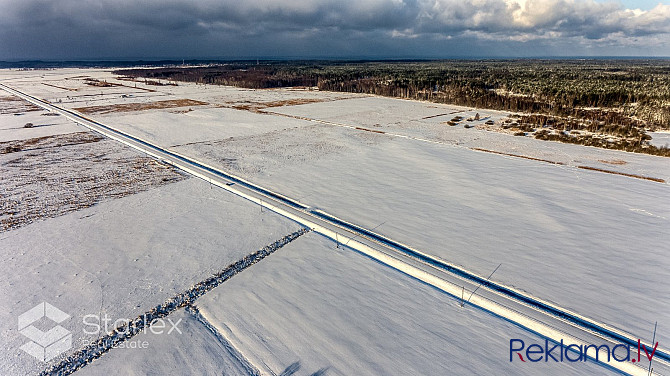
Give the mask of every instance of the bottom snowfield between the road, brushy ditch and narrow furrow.
[[510, 338], [544, 340], [315, 233], [197, 306], [266, 374], [296, 363], [296, 375], [603, 372], [593, 363], [510, 363]]

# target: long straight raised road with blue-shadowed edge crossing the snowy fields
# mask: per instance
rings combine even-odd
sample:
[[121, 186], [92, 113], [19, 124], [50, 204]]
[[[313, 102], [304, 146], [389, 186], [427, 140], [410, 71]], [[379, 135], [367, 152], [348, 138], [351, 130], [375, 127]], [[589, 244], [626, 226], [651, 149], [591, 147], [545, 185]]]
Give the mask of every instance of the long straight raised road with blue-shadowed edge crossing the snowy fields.
[[[0, 88], [21, 97], [48, 111], [114, 139], [164, 163], [203, 179], [213, 186], [241, 196], [259, 207], [271, 210], [300, 223], [336, 242], [371, 259], [394, 268], [409, 277], [418, 279], [457, 299], [463, 309], [481, 309], [510, 321], [550, 341], [566, 344], [589, 345], [628, 344], [637, 350], [638, 338], [605, 323], [589, 319], [587, 315], [571, 312], [525, 292], [502, 285], [487, 277], [441, 260], [412, 247], [386, 238], [354, 223], [345, 222], [326, 212], [309, 206], [281, 193], [258, 186], [241, 177], [207, 165], [194, 158], [169, 151], [134, 135], [114, 129], [82, 114], [51, 104], [40, 98], [0, 84]], [[474, 292], [474, 293], [473, 293]], [[646, 348], [653, 346], [641, 342]], [[600, 359], [599, 364], [618, 373], [647, 375], [648, 362], [640, 363], [603, 361], [604, 352], [597, 349], [587, 352], [590, 359]], [[635, 351], [637, 352], [637, 351]], [[670, 374], [670, 352], [658, 347], [653, 360], [654, 374]]]

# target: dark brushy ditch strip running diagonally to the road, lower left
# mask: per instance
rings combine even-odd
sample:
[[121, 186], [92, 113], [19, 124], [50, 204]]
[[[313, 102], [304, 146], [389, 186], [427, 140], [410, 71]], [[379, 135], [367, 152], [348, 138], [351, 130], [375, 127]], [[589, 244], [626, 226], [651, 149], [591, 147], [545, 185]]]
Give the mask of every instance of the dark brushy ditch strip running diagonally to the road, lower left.
[[278, 249], [309, 231], [310, 230], [303, 228], [288, 234], [281, 239], [265, 246], [264, 248], [245, 256], [239, 261], [228, 265], [228, 267], [223, 269], [221, 272], [195, 284], [185, 292], [173, 296], [172, 298], [166, 300], [163, 304], [143, 313], [129, 323], [117, 327], [107, 335], [98, 338], [97, 341], [94, 341], [90, 345], [84, 346], [83, 348], [75, 351], [72, 355], [66, 357], [60, 363], [42, 371], [40, 375], [64, 376], [72, 374], [78, 369], [85, 367], [95, 359], [100, 358], [103, 354], [107, 353], [118, 344], [125, 342], [135, 335], [143, 332], [146, 328], [149, 328], [155, 320], [164, 318], [177, 309], [192, 305], [193, 302], [195, 302], [195, 300], [199, 297], [203, 296], [223, 282], [234, 277], [236, 274], [261, 261], [265, 257], [271, 255]]

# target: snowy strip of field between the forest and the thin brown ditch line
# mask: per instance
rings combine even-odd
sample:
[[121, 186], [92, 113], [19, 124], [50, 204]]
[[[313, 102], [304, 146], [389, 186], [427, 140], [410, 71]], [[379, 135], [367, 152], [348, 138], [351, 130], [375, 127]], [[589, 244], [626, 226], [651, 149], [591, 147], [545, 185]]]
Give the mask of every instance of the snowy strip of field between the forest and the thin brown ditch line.
[[[487, 120], [497, 122], [509, 114], [501, 111], [383, 97], [354, 98], [332, 103], [314, 103], [269, 110], [338, 124], [365, 126], [465, 148], [489, 149], [566, 165], [586, 165], [670, 181], [670, 163], [664, 157], [548, 142], [476, 128], [465, 129], [461, 125], [450, 127], [444, 124], [457, 115], [467, 119], [479, 113], [479, 121], [462, 121], [461, 123], [481, 126]], [[441, 113], [450, 115], [425, 118]]]

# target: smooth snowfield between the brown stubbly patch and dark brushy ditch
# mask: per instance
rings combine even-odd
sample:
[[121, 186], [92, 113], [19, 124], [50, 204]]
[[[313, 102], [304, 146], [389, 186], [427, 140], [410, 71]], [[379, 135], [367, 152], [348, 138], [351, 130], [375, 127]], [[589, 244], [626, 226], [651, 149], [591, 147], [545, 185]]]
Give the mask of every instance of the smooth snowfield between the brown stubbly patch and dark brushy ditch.
[[72, 316], [80, 344], [84, 315], [136, 317], [298, 228], [192, 178], [0, 233], [0, 374], [42, 367], [16, 330], [41, 301]]

